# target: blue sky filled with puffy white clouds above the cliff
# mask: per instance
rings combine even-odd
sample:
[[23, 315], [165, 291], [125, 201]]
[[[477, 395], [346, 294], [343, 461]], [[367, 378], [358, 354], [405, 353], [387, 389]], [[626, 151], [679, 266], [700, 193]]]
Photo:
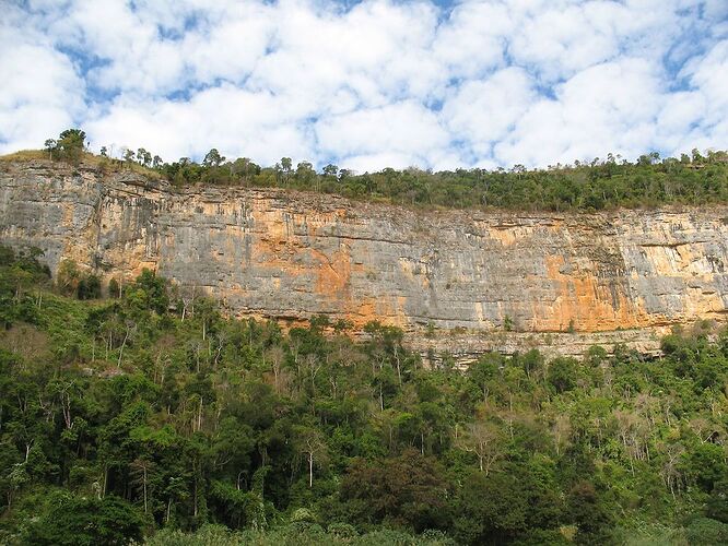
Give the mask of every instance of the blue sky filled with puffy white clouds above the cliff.
[[728, 149], [728, 0], [0, 0], [0, 153], [355, 171]]

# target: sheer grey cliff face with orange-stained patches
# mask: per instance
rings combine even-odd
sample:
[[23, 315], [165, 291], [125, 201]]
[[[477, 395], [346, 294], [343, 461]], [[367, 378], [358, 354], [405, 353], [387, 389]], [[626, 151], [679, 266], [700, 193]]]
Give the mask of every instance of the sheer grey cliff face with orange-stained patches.
[[240, 316], [379, 320], [423, 353], [463, 359], [594, 343], [655, 351], [671, 325], [726, 318], [725, 206], [412, 211], [272, 189], [178, 190], [40, 161], [0, 169], [3, 244], [39, 247], [54, 272], [67, 258], [106, 281], [154, 269]]

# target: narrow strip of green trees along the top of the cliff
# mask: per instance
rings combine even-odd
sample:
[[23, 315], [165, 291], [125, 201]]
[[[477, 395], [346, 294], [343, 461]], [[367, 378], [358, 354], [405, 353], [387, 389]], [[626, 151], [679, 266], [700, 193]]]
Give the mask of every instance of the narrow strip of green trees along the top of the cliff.
[[[63, 131], [46, 141], [49, 157], [79, 162], [85, 133]], [[631, 163], [607, 154], [588, 163], [506, 170], [480, 168], [432, 173], [418, 168], [356, 174], [327, 165], [316, 171], [308, 162], [294, 165], [283, 157], [274, 166], [261, 167], [251, 159], [228, 159], [212, 149], [201, 163], [183, 157], [164, 162], [140, 147], [126, 149], [122, 159], [96, 157], [103, 168], [141, 168], [184, 187], [220, 185], [277, 187], [337, 193], [348, 198], [406, 205], [448, 207], [502, 207], [543, 211], [598, 211], [618, 206], [728, 203], [728, 153], [693, 150], [680, 158], [660, 158], [650, 153]]]

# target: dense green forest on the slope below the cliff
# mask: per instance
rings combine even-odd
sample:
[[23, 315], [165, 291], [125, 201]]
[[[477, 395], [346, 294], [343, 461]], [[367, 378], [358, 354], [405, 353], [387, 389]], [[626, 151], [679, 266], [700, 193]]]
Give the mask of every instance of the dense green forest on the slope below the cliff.
[[0, 247], [0, 543], [726, 544], [728, 333], [428, 368]]

